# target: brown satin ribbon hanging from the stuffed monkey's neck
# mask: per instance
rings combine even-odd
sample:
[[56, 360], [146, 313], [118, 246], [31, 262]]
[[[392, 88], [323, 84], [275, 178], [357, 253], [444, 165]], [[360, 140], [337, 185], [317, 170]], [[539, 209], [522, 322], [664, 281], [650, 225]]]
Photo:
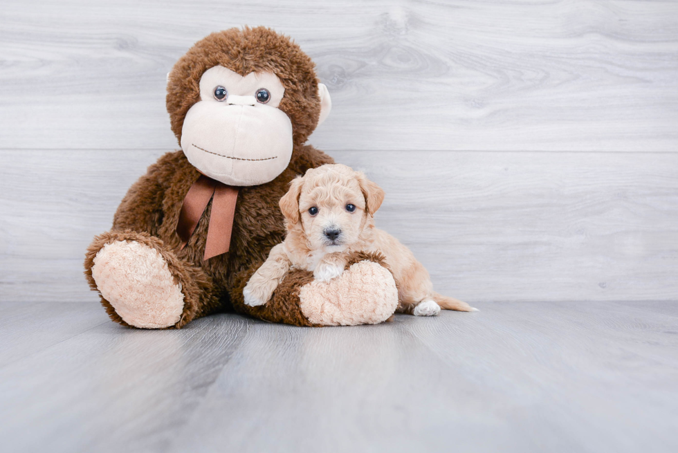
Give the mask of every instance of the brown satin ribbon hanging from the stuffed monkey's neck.
[[176, 224], [176, 234], [181, 239], [181, 248], [183, 249], [188, 243], [207, 205], [212, 200], [203, 260], [228, 252], [237, 198], [237, 187], [214, 181], [201, 174], [198, 181], [188, 189], [183, 205], [181, 205], [179, 221]]

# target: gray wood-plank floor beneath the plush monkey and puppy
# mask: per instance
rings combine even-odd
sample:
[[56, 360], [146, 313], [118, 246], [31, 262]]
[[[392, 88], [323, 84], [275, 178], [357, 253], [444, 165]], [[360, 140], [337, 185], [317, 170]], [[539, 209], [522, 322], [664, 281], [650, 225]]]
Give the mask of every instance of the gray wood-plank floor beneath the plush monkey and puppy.
[[[64, 306], [68, 304], [55, 304]], [[95, 304], [82, 315], [101, 315]], [[675, 452], [678, 304], [479, 304], [309, 329], [214, 315], [62, 340], [24, 304], [0, 364], [12, 452]], [[7, 306], [0, 304], [0, 312]], [[13, 310], [17, 310], [12, 306]], [[661, 313], [660, 313], [661, 312]]]

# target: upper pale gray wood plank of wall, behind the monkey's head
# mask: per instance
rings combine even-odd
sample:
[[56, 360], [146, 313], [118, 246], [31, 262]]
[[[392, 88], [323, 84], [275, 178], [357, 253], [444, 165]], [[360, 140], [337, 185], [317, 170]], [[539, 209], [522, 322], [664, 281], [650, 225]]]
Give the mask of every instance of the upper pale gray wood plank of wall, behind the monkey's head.
[[165, 75], [243, 24], [294, 37], [342, 149], [676, 151], [675, 1], [3, 1], [4, 149], [168, 149]]

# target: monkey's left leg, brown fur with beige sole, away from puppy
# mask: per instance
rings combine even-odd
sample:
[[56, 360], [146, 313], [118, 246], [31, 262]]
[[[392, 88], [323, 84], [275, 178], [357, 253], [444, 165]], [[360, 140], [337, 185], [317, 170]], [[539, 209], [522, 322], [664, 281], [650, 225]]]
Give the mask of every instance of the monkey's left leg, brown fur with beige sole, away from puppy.
[[84, 266], [111, 319], [125, 326], [179, 329], [219, 308], [212, 279], [145, 232], [95, 237]]

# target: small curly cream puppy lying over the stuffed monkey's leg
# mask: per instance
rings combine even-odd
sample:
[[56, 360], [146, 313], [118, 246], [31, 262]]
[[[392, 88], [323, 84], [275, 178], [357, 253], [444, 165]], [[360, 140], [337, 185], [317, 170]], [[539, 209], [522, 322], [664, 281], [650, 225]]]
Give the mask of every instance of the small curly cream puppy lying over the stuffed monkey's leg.
[[245, 303], [263, 305], [291, 267], [329, 281], [344, 271], [349, 252], [381, 252], [398, 287], [400, 313], [435, 316], [440, 308], [476, 311], [465, 302], [434, 293], [428, 271], [407, 247], [374, 226], [384, 191], [361, 172], [340, 164], [309, 169], [280, 200], [287, 236], [244, 288]]

